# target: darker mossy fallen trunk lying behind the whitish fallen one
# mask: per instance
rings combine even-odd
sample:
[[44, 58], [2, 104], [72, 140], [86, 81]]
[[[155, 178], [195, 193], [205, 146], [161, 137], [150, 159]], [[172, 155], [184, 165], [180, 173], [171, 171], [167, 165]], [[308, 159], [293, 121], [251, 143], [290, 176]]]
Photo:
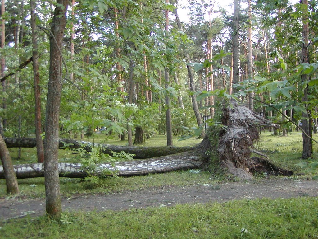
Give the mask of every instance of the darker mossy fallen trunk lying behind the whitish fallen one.
[[[36, 147], [35, 138], [5, 138], [4, 139], [8, 148], [34, 148]], [[111, 151], [120, 153], [124, 151], [129, 154], [134, 154], [135, 159], [146, 159], [152, 157], [159, 157], [164, 155], [171, 155], [182, 153], [186, 151], [193, 150], [195, 147], [185, 146], [185, 147], [173, 147], [173, 146], [151, 146], [151, 147], [142, 147], [142, 146], [120, 146], [120, 145], [110, 145], [110, 144], [97, 144], [86, 141], [77, 141], [70, 139], [60, 139], [59, 140], [59, 149], [72, 149], [76, 150], [83, 148], [86, 152], [92, 152], [92, 147], [101, 147], [104, 154], [112, 155]]]

